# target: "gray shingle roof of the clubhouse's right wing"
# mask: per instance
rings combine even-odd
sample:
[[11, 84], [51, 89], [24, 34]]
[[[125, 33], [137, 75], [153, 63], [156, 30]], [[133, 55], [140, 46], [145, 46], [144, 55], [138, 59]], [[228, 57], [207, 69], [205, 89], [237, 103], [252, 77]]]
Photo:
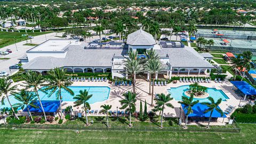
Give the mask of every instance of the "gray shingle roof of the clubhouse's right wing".
[[191, 47], [164, 48], [156, 50], [156, 52], [160, 57], [166, 57], [166, 54], [168, 54], [172, 67], [213, 68], [209, 62], [204, 60], [204, 58]]

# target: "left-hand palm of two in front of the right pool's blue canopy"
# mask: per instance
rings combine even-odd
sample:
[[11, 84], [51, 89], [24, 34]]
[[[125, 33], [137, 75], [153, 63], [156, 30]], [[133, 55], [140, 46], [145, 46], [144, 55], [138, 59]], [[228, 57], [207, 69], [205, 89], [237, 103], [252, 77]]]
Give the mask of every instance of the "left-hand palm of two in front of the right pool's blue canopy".
[[186, 106], [187, 113], [186, 113], [186, 123], [185, 123], [185, 128], [187, 127], [188, 123], [188, 115], [193, 113], [192, 107], [196, 105], [196, 103], [199, 102], [199, 100], [193, 101], [194, 100], [194, 94], [191, 94], [190, 97], [181, 97], [182, 101], [179, 101], [179, 103], [183, 104]]

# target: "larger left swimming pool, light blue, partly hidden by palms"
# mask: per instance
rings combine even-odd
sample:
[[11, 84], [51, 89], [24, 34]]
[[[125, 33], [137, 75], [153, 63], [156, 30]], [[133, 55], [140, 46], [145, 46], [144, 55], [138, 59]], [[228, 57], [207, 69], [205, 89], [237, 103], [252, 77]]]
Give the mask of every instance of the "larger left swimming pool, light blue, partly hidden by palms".
[[[109, 92], [110, 92], [110, 87], [108, 87], [108, 86], [68, 86], [68, 87], [74, 92], [74, 96], [79, 94], [80, 90], [89, 91], [89, 94], [92, 94], [92, 98], [90, 100], [88, 100], [88, 102], [90, 104], [107, 100]], [[56, 93], [53, 93], [51, 95], [51, 97], [49, 97], [49, 93], [44, 93], [42, 91], [38, 91], [38, 94], [39, 94], [39, 97], [41, 100], [56, 100], [57, 99], [57, 97], [55, 95]], [[64, 90], [61, 90], [61, 95], [62, 95], [63, 101], [75, 101], [75, 99], [73, 99], [73, 96]], [[12, 95], [9, 96], [9, 99], [10, 99], [12, 105], [14, 103], [19, 102], [18, 100], [14, 99]], [[4, 104], [5, 105], [3, 105], [3, 106], [0, 105], [1, 108], [10, 107], [7, 99], [4, 100]]]

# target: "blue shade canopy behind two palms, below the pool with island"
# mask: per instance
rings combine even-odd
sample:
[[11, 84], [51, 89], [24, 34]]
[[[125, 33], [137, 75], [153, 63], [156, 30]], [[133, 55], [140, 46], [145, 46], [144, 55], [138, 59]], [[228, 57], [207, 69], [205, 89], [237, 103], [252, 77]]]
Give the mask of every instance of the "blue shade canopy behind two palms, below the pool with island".
[[[187, 114], [187, 106], [181, 104], [184, 112], [185, 112], [185, 115]], [[205, 110], [207, 110], [209, 107], [207, 107], [206, 105], [203, 105], [201, 103], [197, 103], [196, 105], [194, 105], [192, 107], [192, 110], [193, 110], [193, 113], [192, 114], [189, 114], [188, 117], [210, 117], [211, 115], [211, 111], [207, 112], [207, 113], [204, 113]], [[218, 107], [219, 108], [219, 107]], [[221, 116], [221, 114], [217, 111], [217, 110], [213, 110], [213, 113], [212, 113], [212, 117], [227, 117], [225, 114], [223, 114]]]

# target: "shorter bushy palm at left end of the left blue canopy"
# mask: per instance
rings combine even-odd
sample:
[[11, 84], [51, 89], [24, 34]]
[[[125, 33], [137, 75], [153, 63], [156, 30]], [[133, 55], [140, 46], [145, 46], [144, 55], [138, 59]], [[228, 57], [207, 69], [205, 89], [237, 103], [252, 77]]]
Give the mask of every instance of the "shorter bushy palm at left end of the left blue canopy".
[[[13, 94], [14, 99], [17, 99], [20, 103], [15, 103], [13, 107], [18, 107], [23, 109], [25, 106], [27, 107], [29, 116], [31, 121], [34, 121], [28, 106], [36, 108], [37, 106], [34, 104], [36, 102], [36, 95], [32, 92], [28, 92], [25, 89], [22, 89], [19, 93]], [[46, 119], [45, 119], [46, 120]]]

